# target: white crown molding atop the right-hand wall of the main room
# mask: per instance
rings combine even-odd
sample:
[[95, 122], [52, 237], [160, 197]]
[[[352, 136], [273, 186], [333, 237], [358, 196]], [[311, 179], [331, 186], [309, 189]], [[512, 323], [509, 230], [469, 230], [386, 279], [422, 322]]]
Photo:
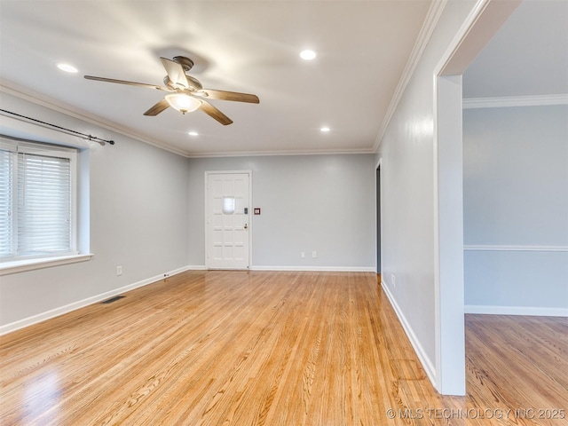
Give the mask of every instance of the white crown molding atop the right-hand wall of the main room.
[[392, 95], [392, 99], [390, 99], [390, 104], [387, 108], [386, 114], [384, 115], [383, 123], [381, 124], [381, 128], [379, 129], [377, 137], [375, 138], [375, 144], [373, 145], [374, 153], [377, 152], [379, 146], [381, 145], [384, 132], [387, 130], [390, 120], [392, 119], [392, 116], [397, 109], [398, 102], [400, 102], [400, 99], [402, 99], [402, 95], [406, 90], [406, 86], [414, 75], [414, 70], [416, 69], [416, 67], [418, 67], [420, 59], [422, 59], [422, 54], [426, 49], [426, 45], [428, 44], [428, 42], [430, 42], [430, 37], [432, 36], [434, 29], [438, 25], [438, 20], [442, 16], [442, 12], [444, 12], [447, 2], [448, 0], [432, 0], [432, 3], [430, 4], [430, 9], [426, 14], [422, 28], [420, 29], [420, 32], [416, 37], [416, 43], [414, 43], [413, 50], [410, 52], [410, 56], [406, 61], [406, 67], [402, 72], [402, 75], [400, 75], [397, 88]]

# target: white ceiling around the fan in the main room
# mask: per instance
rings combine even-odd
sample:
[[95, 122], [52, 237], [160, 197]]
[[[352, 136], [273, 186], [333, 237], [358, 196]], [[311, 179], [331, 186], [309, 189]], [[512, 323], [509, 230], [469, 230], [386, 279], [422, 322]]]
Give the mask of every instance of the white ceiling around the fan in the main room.
[[[430, 0], [2, 0], [0, 75], [11, 90], [181, 154], [372, 152], [429, 8]], [[307, 47], [318, 52], [312, 62], [298, 56]], [[210, 101], [229, 126], [201, 111], [147, 117], [163, 92], [83, 78], [162, 84], [159, 57], [177, 55], [193, 59], [189, 74], [205, 88], [255, 93], [260, 104]]]

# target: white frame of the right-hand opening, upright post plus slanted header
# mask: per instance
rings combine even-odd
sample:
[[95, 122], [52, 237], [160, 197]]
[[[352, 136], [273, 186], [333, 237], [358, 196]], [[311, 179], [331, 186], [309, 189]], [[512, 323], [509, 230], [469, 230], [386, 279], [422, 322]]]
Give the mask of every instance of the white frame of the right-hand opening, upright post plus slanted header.
[[[462, 195], [456, 190], [452, 177], [452, 161], [455, 161], [455, 149], [461, 150], [461, 92], [456, 96], [455, 86], [461, 75], [475, 59], [521, 0], [500, 2], [498, 0], [477, 0], [462, 22], [454, 39], [449, 43], [434, 67], [434, 297], [435, 297], [435, 344], [436, 344], [436, 389], [446, 395], [465, 394], [465, 344], [463, 327], [463, 225], [457, 232], [457, 219], [463, 220], [462, 205], [454, 201], [452, 193]], [[455, 110], [460, 114], [455, 114]], [[459, 131], [455, 122], [460, 122]], [[454, 159], [452, 156], [454, 155]], [[459, 156], [461, 159], [461, 155]], [[461, 162], [460, 162], [461, 163]], [[455, 162], [454, 162], [455, 164]], [[442, 176], [445, 175], [445, 176]], [[459, 177], [462, 184], [462, 177]], [[447, 191], [450, 193], [447, 193]], [[461, 197], [460, 195], [460, 197]], [[449, 222], [455, 222], [454, 225]], [[454, 228], [454, 238], [452, 238]], [[461, 241], [461, 243], [458, 243]], [[460, 255], [461, 257], [458, 257]], [[453, 264], [459, 260], [459, 266]], [[458, 269], [461, 267], [461, 274]], [[452, 281], [455, 281], [454, 283]]]

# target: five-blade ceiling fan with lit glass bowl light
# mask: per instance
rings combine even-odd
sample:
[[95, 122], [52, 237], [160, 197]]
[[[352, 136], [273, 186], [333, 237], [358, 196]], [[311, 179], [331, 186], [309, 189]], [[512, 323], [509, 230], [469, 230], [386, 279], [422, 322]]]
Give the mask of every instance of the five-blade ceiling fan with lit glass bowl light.
[[190, 113], [196, 109], [201, 109], [205, 114], [213, 117], [223, 125], [231, 124], [233, 120], [212, 106], [205, 99], [233, 100], [237, 102], [248, 102], [257, 104], [260, 102], [256, 95], [240, 93], [236, 91], [216, 91], [203, 89], [203, 86], [196, 78], [185, 74], [193, 67], [193, 60], [184, 56], [176, 56], [173, 60], [160, 58], [162, 65], [166, 69], [167, 75], [163, 78], [163, 86], [154, 84], [135, 83], [125, 80], [114, 80], [112, 78], [95, 77], [85, 75], [88, 80], [97, 80], [106, 83], [130, 84], [132, 86], [146, 87], [158, 91], [167, 91], [164, 99], [152, 106], [144, 115], [157, 115], [162, 113], [168, 106], [177, 109], [182, 114]]

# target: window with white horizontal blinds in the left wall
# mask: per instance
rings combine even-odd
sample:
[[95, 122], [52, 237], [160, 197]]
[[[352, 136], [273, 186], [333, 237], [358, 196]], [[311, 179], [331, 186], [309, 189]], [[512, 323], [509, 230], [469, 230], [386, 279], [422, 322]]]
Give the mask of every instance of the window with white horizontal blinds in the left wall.
[[76, 155], [0, 139], [0, 261], [77, 254]]

